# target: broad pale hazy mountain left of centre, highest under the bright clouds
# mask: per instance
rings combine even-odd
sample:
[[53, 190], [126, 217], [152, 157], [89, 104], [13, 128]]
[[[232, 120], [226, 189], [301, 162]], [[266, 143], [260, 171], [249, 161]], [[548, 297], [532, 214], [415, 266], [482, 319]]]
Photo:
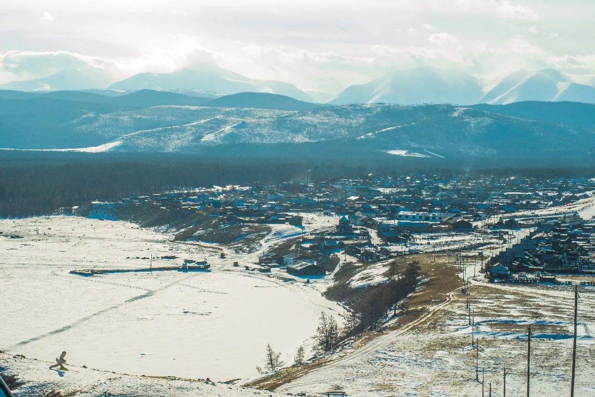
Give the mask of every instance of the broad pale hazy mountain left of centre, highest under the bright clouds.
[[203, 64], [171, 73], [140, 73], [109, 86], [120, 90], [192, 90], [235, 94], [239, 92], [268, 92], [281, 94], [305, 102], [314, 98], [290, 83], [274, 80], [257, 80], [245, 77], [212, 64]]

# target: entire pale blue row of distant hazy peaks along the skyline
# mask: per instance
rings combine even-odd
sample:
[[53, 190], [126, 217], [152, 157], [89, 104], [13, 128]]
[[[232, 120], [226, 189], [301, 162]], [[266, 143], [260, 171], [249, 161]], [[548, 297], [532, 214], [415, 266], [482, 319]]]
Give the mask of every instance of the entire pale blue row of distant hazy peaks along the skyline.
[[[595, 80], [593, 82], [595, 84]], [[220, 97], [242, 92], [264, 92], [289, 96], [309, 103], [347, 105], [355, 103], [453, 103], [502, 105], [526, 100], [595, 103], [595, 87], [578, 84], [556, 70], [518, 70], [486, 86], [462, 71], [419, 67], [399, 70], [369, 83], [355, 84], [333, 96], [315, 90], [300, 90], [293, 84], [258, 80], [201, 64], [171, 73], [140, 73], [111, 81], [105, 71], [87, 68], [62, 70], [44, 78], [13, 81], [3, 89], [31, 92], [84, 90], [104, 96], [121, 96], [138, 90], [161, 90], [196, 97]]]

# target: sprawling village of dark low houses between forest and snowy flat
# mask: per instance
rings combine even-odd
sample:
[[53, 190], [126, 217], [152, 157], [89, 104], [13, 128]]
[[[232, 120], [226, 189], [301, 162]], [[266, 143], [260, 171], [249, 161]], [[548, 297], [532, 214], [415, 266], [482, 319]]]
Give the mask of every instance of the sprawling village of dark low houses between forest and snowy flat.
[[[593, 273], [595, 223], [578, 214], [592, 205], [588, 198], [594, 190], [593, 179], [370, 176], [180, 189], [93, 201], [76, 211], [109, 220], [152, 212], [151, 226], [166, 223], [177, 228], [180, 240], [206, 243], [258, 240], [259, 228], [295, 226], [287, 239], [291, 244], [265, 248], [252, 263], [234, 263], [252, 271], [279, 267], [295, 276], [320, 276], [334, 270], [339, 254], [376, 263], [415, 253], [474, 250], [482, 263], [486, 260], [481, 269], [486, 277], [518, 281], [512, 274], [522, 273], [522, 279], [535, 281], [543, 275], [526, 274]], [[306, 223], [313, 222], [321, 227], [306, 231]], [[209, 237], [216, 229], [219, 240]], [[252, 244], [247, 252], [259, 249]]]

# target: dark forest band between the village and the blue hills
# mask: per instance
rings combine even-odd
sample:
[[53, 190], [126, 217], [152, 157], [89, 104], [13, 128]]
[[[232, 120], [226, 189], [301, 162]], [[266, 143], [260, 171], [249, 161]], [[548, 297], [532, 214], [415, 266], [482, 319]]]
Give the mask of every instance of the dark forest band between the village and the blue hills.
[[[502, 163], [498, 163], [502, 166]], [[478, 168], [468, 162], [428, 162], [399, 157], [356, 159], [242, 157], [164, 154], [0, 153], [0, 216], [48, 215], [61, 207], [161, 193], [178, 188], [372, 175], [527, 175], [538, 178], [588, 177], [595, 168]]]

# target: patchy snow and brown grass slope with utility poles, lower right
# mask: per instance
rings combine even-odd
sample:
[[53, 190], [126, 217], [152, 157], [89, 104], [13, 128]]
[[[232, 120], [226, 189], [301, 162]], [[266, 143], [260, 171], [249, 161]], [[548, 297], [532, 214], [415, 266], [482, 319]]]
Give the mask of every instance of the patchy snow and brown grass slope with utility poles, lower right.
[[[444, 260], [444, 259], [439, 259]], [[445, 261], [445, 260], [444, 260]], [[337, 354], [278, 392], [320, 393], [345, 390], [350, 396], [481, 395], [475, 381], [475, 350], [464, 295], [452, 294], [427, 322], [383, 333], [362, 348]], [[577, 387], [575, 396], [595, 395], [595, 288], [583, 288], [579, 305]], [[485, 395], [492, 384], [502, 396], [503, 366], [507, 393], [524, 395], [527, 325], [532, 324], [531, 388], [537, 396], [566, 395], [572, 351], [572, 290], [563, 286], [492, 285], [480, 278], [471, 287], [475, 336], [480, 338], [480, 368], [485, 368]], [[481, 370], [480, 370], [481, 371]], [[481, 378], [481, 372], [480, 372]]]

